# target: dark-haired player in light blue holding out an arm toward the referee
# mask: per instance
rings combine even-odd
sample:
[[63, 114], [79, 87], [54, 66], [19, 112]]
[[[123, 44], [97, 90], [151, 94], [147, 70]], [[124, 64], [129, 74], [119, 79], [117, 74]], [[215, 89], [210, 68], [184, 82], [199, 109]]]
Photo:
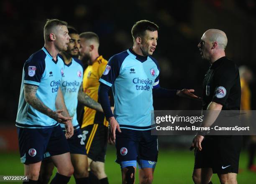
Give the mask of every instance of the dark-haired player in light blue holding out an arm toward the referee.
[[[198, 98], [191, 93], [194, 90], [160, 87], [159, 65], [151, 57], [156, 50], [158, 30], [159, 27], [148, 20], [136, 22], [131, 31], [133, 47], [111, 57], [100, 78], [100, 103], [110, 122], [123, 184], [135, 182], [137, 161], [140, 184], [153, 181], [158, 156], [157, 136], [151, 136], [153, 96]], [[115, 98], [114, 115], [108, 98], [110, 87]]]

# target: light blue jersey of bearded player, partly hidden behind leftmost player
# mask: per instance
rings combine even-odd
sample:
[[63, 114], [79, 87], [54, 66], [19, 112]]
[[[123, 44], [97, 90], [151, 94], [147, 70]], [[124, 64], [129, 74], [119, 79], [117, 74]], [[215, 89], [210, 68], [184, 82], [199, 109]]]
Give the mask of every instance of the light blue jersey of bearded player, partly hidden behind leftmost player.
[[[65, 64], [64, 75], [61, 79], [61, 91], [64, 96], [64, 101], [69, 111], [69, 115], [73, 118], [72, 123], [74, 129], [79, 129], [77, 121], [77, 96], [79, 87], [83, 79], [82, 62], [76, 58], [72, 58], [71, 63]], [[64, 124], [60, 124], [61, 128], [65, 128]]]

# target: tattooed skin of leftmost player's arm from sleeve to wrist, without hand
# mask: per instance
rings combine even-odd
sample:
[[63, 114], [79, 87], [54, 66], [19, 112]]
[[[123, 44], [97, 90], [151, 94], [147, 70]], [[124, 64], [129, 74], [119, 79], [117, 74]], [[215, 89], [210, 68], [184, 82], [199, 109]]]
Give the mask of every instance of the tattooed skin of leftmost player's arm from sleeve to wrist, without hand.
[[31, 105], [33, 108], [38, 110], [41, 113], [46, 114], [47, 116], [51, 118], [56, 118], [57, 114], [52, 111], [50, 108], [44, 105], [43, 102], [41, 102], [38, 98], [36, 98], [36, 91], [38, 89], [38, 86], [32, 86], [32, 85], [24, 85], [24, 95], [27, 103]]

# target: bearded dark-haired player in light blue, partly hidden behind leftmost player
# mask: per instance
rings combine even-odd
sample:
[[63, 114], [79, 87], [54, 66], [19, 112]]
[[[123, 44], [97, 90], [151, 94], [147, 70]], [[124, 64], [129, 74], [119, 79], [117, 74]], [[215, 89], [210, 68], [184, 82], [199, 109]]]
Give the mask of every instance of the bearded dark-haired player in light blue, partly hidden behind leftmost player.
[[[72, 138], [67, 139], [72, 164], [74, 166], [74, 178], [76, 184], [88, 184], [88, 159], [84, 145], [84, 136], [80, 130], [77, 121], [77, 103], [81, 102], [84, 106], [88, 106], [97, 111], [101, 111], [100, 103], [94, 101], [90, 96], [82, 91], [83, 79], [83, 65], [77, 59], [79, 56], [80, 38], [77, 30], [73, 27], [68, 27], [69, 31], [69, 44], [66, 51], [61, 51], [60, 58], [64, 60], [64, 75], [60, 82], [60, 88], [64, 96], [64, 102], [67, 106], [69, 115], [73, 118], [72, 124], [74, 126], [74, 135]], [[62, 130], [65, 131], [64, 125], [61, 124]], [[46, 184], [51, 178], [51, 173], [54, 165], [49, 160], [43, 161], [42, 169], [40, 172], [40, 179], [38, 184]]]

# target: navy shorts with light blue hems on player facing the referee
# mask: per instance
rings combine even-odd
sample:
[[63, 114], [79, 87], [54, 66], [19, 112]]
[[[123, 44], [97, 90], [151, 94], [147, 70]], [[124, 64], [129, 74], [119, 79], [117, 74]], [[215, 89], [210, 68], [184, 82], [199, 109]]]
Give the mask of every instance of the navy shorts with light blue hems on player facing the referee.
[[121, 129], [115, 133], [116, 162], [121, 168], [138, 166], [154, 168], [158, 156], [157, 136], [151, 136], [151, 130]]

